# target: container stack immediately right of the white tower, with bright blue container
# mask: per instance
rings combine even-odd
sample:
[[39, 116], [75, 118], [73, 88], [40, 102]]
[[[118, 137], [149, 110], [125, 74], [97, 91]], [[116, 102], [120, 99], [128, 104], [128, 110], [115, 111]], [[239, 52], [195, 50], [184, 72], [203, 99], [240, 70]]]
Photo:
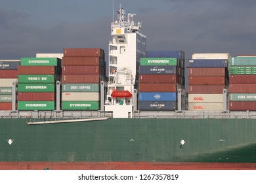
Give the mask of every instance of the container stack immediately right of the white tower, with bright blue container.
[[176, 110], [184, 88], [184, 52], [147, 52], [140, 58], [139, 110]]

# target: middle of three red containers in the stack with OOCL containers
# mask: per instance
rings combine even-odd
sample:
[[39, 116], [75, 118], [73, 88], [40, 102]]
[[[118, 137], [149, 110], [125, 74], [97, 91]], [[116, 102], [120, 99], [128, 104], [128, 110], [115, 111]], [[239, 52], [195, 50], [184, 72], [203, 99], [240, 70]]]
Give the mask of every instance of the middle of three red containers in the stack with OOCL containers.
[[188, 77], [189, 85], [224, 85], [223, 76], [190, 76]]

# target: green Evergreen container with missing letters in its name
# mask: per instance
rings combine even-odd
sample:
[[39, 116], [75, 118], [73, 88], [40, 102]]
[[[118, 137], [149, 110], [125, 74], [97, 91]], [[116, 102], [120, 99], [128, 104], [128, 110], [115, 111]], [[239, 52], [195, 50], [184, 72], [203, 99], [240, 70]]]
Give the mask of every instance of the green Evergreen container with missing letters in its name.
[[18, 75], [18, 83], [54, 83], [54, 75]]

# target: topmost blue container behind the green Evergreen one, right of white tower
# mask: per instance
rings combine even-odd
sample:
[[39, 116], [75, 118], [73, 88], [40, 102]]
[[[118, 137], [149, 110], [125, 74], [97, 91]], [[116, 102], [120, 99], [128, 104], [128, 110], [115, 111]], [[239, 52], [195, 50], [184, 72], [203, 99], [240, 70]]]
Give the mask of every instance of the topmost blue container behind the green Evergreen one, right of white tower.
[[179, 58], [185, 59], [185, 53], [182, 51], [147, 51], [147, 58]]

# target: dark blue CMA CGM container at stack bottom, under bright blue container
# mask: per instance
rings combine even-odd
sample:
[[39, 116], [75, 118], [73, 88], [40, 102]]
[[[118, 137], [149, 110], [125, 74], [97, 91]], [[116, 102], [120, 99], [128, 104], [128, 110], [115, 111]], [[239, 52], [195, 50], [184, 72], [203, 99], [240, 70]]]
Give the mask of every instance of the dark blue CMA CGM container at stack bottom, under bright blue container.
[[139, 110], [176, 110], [176, 101], [139, 101]]

